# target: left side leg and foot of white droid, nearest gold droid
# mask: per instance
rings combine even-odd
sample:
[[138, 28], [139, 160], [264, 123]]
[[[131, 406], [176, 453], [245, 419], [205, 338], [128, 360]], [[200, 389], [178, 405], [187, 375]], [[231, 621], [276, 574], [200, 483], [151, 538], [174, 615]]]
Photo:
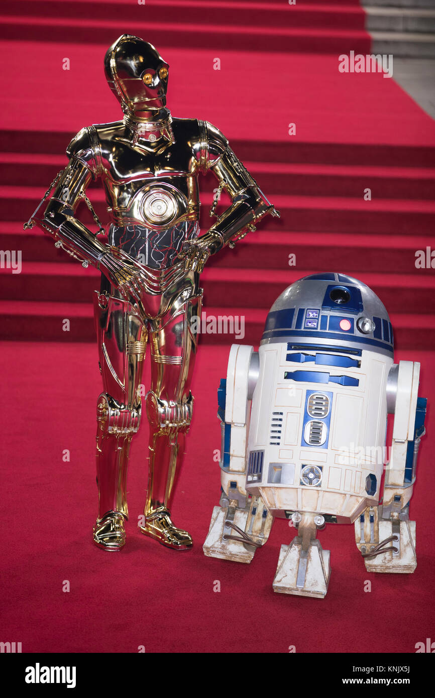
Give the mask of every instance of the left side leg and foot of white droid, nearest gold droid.
[[214, 507], [202, 549], [206, 556], [250, 563], [267, 541], [272, 516], [260, 496], [246, 493], [246, 444], [258, 354], [253, 347], [233, 344], [227, 378], [218, 391], [222, 447], [221, 499]]

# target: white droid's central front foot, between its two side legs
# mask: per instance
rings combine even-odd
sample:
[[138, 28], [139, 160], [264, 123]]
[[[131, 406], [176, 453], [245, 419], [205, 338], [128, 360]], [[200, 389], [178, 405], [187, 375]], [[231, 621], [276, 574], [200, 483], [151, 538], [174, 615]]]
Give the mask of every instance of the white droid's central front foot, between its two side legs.
[[330, 575], [330, 551], [323, 550], [318, 540], [303, 550], [302, 538], [298, 536], [290, 545], [281, 545], [273, 589], [282, 594], [323, 599]]

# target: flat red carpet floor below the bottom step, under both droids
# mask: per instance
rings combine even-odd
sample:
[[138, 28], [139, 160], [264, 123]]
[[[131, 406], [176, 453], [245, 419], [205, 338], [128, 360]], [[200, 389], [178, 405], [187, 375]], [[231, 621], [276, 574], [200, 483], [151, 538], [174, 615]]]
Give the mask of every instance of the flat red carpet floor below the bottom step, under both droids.
[[[7, 428], [1, 471], [8, 484], [3, 485], [1, 637], [21, 641], [23, 652], [135, 653], [145, 645], [147, 652], [286, 653], [295, 645], [297, 653], [413, 653], [416, 642], [433, 637], [430, 413], [411, 501], [415, 573], [369, 574], [353, 526], [328, 524], [319, 540], [331, 551], [330, 587], [325, 600], [312, 600], [272, 591], [279, 547], [294, 535], [286, 521], [274, 523], [251, 565], [202, 554], [219, 500], [214, 396], [226, 375], [228, 350], [202, 346], [198, 354], [193, 424], [174, 507], [175, 521], [192, 533], [195, 546], [180, 554], [136, 528], [145, 497], [146, 426], [132, 452], [126, 547], [109, 554], [91, 542], [97, 504], [94, 417], [101, 389], [96, 348], [5, 342], [0, 356], [2, 375], [13, 375], [3, 397], [8, 414], [2, 416]], [[422, 395], [433, 396], [434, 352], [398, 352], [397, 359], [422, 362]], [[69, 407], [79, 403], [82, 412]], [[62, 461], [64, 449], [71, 451], [69, 463]], [[66, 579], [69, 593], [62, 591]], [[364, 593], [367, 579], [371, 593]], [[213, 591], [215, 580], [220, 593]]]

